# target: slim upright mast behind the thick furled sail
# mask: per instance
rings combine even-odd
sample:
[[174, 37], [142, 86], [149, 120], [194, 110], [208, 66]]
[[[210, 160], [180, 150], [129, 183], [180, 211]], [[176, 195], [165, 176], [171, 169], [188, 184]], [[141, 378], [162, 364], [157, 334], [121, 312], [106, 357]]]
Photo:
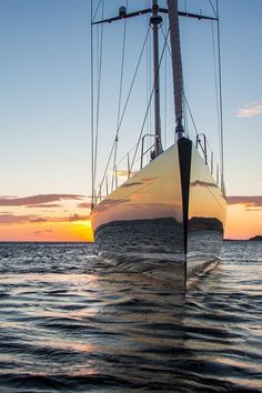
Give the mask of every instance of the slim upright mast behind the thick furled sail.
[[154, 153], [158, 157], [162, 152], [161, 144], [161, 123], [160, 123], [160, 81], [159, 81], [159, 27], [162, 23], [162, 17], [159, 16], [158, 0], [152, 0], [152, 17], [150, 24], [153, 30], [153, 71], [154, 71], [154, 133], [155, 148]]

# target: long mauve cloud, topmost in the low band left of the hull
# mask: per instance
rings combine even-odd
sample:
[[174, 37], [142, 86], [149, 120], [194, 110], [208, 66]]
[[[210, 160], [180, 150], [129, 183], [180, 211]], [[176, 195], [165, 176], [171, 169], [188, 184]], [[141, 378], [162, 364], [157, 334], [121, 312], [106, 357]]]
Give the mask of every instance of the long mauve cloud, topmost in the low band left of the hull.
[[[62, 200], [80, 200], [83, 195], [77, 194], [39, 194], [26, 198], [0, 198], [0, 206], [31, 206], [31, 205], [43, 205], [49, 202], [62, 201]], [[51, 206], [51, 205], [49, 205]]]

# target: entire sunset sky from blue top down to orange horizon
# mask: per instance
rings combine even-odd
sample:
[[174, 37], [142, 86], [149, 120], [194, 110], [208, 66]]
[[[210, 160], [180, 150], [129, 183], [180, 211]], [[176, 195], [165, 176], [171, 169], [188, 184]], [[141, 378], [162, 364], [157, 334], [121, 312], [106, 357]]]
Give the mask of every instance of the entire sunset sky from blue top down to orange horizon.
[[[229, 202], [225, 238], [249, 239], [262, 234], [262, 1], [219, 2]], [[111, 17], [125, 0], [105, 3], [104, 12]], [[148, 1], [129, 3], [132, 11]], [[185, 2], [179, 3], [183, 9]], [[188, 9], [210, 13], [206, 3], [187, 2]], [[141, 40], [141, 20], [131, 23], [137, 23], [133, 39]], [[118, 37], [112, 30], [117, 28], [110, 28]], [[209, 59], [202, 43], [190, 42], [194, 29], [196, 22], [181, 23], [184, 63], [191, 64], [185, 66], [185, 91], [190, 102], [196, 98], [198, 111], [200, 98], [210, 101], [198, 61], [209, 64]], [[201, 29], [204, 34], [205, 28]], [[115, 42], [110, 47], [112, 64], [119, 58]], [[0, 0], [0, 241], [91, 241], [90, 1]], [[111, 69], [103, 70], [104, 79]], [[115, 122], [110, 100], [111, 95], [101, 108], [107, 130]], [[211, 129], [209, 103], [204, 108], [205, 119], [196, 117], [196, 122]], [[129, 135], [135, 127], [129, 125]], [[110, 138], [103, 137], [103, 148], [111, 145]], [[102, 159], [99, 165], [104, 165]]]

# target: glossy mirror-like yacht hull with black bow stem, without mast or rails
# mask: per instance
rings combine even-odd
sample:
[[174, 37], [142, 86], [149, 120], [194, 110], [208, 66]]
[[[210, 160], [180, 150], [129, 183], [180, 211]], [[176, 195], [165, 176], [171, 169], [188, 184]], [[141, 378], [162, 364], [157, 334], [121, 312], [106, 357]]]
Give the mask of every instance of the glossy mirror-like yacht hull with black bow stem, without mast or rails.
[[91, 214], [100, 256], [179, 286], [219, 259], [224, 219], [224, 196], [185, 138]]

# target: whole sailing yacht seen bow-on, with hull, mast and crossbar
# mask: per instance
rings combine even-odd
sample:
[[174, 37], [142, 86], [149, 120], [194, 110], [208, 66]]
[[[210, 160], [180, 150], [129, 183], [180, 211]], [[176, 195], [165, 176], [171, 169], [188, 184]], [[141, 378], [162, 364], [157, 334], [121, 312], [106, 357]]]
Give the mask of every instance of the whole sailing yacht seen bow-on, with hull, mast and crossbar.
[[[150, 16], [154, 64], [154, 134], [150, 162], [105, 195], [92, 195], [91, 223], [101, 258], [132, 272], [150, 274], [187, 288], [189, 281], [219, 261], [223, 240], [226, 202], [223, 172], [208, 162], [204, 134], [192, 141], [184, 130], [183, 75], [179, 18], [215, 18], [179, 11], [178, 0], [168, 0], [161, 8], [151, 7], [129, 13], [121, 7], [117, 17], [100, 20], [107, 23], [137, 16]], [[174, 143], [164, 150], [160, 127], [159, 27], [168, 14], [173, 73]], [[145, 137], [144, 137], [145, 138]], [[107, 185], [108, 189], [108, 185]]]

